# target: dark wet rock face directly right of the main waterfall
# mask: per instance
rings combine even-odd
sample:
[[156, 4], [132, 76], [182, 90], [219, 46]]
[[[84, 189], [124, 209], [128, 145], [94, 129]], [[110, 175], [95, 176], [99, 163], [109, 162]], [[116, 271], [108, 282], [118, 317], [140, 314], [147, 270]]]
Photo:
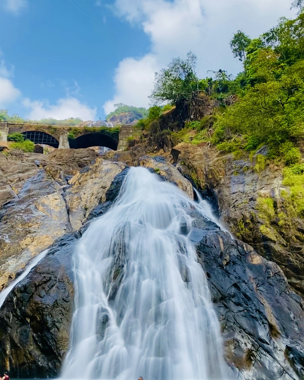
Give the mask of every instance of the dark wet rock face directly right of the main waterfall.
[[[197, 222], [196, 222], [197, 223]], [[225, 358], [239, 378], [304, 377], [304, 306], [279, 266], [217, 226], [203, 230], [198, 260], [219, 317]]]

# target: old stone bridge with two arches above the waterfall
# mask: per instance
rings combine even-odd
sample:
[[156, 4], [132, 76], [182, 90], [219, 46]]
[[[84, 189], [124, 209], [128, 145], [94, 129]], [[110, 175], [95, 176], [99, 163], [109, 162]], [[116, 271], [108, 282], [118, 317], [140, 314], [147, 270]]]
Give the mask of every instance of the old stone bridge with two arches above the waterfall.
[[[121, 125], [117, 134], [106, 133], [104, 129], [73, 125], [47, 125], [43, 123], [0, 122], [0, 143], [6, 142], [8, 134], [22, 133], [25, 139], [35, 144], [46, 144], [54, 148], [88, 148], [105, 146], [113, 150], [124, 150], [128, 147], [128, 137], [132, 136], [132, 125]], [[71, 136], [73, 138], [71, 138]], [[75, 138], [74, 138], [75, 137]]]

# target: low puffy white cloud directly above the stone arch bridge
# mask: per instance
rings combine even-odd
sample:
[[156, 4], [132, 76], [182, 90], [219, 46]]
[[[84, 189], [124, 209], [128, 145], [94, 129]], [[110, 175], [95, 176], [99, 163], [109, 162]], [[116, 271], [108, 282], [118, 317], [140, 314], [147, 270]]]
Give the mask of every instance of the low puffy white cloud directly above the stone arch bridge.
[[80, 117], [82, 120], [95, 120], [96, 117], [96, 107], [90, 108], [73, 97], [61, 98], [54, 105], [50, 105], [48, 101], [31, 101], [29, 98], [25, 98], [22, 104], [30, 109], [27, 118], [31, 120], [49, 117], [54, 119]]

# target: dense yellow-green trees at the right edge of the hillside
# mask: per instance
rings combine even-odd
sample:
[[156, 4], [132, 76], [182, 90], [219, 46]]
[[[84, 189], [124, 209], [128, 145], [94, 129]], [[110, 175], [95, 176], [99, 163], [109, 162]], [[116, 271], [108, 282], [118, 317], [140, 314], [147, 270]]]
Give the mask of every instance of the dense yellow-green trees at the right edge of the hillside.
[[295, 144], [304, 136], [304, 13], [280, 19], [254, 40], [244, 43], [244, 36], [238, 31], [231, 44], [244, 62], [244, 72], [232, 81], [238, 101], [217, 117], [213, 141], [226, 150], [268, 144], [270, 156], [295, 164], [300, 157]]

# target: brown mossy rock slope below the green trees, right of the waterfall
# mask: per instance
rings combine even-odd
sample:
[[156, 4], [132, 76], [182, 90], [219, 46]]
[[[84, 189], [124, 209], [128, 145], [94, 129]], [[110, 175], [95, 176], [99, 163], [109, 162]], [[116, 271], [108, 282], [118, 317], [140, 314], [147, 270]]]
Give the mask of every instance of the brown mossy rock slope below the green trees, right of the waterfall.
[[[254, 169], [257, 155], [266, 154], [265, 147], [253, 162], [223, 156], [207, 143], [180, 144], [177, 149], [181, 151], [177, 168], [216, 204], [221, 221], [260, 255], [276, 262], [291, 287], [304, 298], [304, 220], [291, 215], [288, 201], [284, 202], [281, 194], [289, 190], [282, 185], [282, 169], [274, 165], [261, 173]], [[270, 222], [258, 206], [257, 199], [264, 197], [274, 202], [275, 215]]]

